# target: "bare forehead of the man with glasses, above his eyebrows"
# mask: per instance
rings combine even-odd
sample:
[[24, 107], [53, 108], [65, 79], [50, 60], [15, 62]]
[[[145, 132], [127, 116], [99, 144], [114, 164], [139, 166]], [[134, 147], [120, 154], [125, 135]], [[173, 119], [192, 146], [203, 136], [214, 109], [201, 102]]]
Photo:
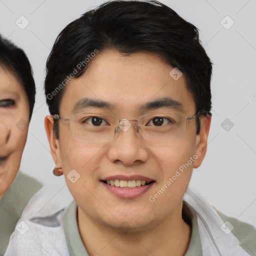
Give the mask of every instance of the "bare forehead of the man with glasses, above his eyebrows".
[[85, 73], [66, 85], [60, 112], [71, 114], [77, 105], [82, 106], [80, 103], [88, 99], [109, 103], [106, 108], [116, 114], [144, 111], [146, 104], [166, 98], [169, 102], [180, 103], [179, 110], [195, 110], [184, 76], [173, 79], [170, 72], [174, 67], [156, 54], [122, 55], [116, 50], [103, 50], [90, 61]]

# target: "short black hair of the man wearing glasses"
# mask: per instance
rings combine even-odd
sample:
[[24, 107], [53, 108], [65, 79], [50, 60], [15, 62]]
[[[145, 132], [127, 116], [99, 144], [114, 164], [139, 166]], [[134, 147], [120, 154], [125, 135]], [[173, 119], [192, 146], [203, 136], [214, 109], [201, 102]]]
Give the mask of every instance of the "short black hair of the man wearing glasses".
[[[182, 71], [198, 115], [211, 115], [212, 66], [200, 44], [198, 29], [156, 0], [105, 2], [85, 12], [59, 33], [46, 62], [44, 88], [50, 114], [59, 114], [69, 74], [78, 78], [88, 67], [84, 61], [87, 56], [95, 49], [109, 48], [124, 55], [141, 51], [156, 53]], [[77, 64], [84, 62], [77, 70]], [[196, 127], [198, 134], [199, 118]], [[56, 122], [53, 129], [58, 138]]]

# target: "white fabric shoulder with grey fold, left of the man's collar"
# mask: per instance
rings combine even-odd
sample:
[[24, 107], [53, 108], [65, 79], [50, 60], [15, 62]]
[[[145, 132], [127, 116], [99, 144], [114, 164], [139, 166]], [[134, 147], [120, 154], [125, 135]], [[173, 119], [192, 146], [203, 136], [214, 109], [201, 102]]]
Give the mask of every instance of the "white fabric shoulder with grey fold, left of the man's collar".
[[64, 209], [50, 215], [20, 219], [4, 256], [68, 256], [63, 232]]

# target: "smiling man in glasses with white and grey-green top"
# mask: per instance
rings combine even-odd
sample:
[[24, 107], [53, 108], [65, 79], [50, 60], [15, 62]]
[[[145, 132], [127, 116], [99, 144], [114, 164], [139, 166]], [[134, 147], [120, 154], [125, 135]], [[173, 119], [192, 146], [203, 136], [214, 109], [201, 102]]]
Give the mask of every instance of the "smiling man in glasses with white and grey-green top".
[[197, 28], [158, 1], [108, 1], [69, 23], [46, 62], [44, 124], [74, 201], [26, 207], [5, 256], [255, 256], [256, 229], [188, 188], [210, 77]]

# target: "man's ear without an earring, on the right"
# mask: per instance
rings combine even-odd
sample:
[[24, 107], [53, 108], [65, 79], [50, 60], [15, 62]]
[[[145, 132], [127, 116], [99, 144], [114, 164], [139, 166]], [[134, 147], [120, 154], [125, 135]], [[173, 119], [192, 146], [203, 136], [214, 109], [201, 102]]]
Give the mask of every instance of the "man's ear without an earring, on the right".
[[204, 115], [201, 115], [200, 117], [200, 133], [196, 135], [195, 137], [195, 152], [198, 152], [197, 159], [194, 160], [194, 168], [197, 168], [201, 165], [202, 160], [206, 154], [207, 150], [207, 139], [210, 129], [210, 121], [211, 117], [208, 118]]

